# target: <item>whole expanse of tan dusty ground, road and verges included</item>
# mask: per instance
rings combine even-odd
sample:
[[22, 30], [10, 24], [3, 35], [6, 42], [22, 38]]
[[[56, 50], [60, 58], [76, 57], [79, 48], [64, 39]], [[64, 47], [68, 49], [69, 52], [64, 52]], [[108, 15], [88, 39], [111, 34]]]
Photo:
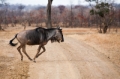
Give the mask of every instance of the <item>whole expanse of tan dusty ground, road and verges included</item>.
[[[17, 47], [8, 44], [22, 30], [14, 27], [0, 32], [0, 79], [120, 79], [119, 33], [64, 28], [65, 42], [49, 42], [47, 51], [33, 63], [25, 55], [21, 62]], [[37, 47], [27, 46], [32, 58]]]

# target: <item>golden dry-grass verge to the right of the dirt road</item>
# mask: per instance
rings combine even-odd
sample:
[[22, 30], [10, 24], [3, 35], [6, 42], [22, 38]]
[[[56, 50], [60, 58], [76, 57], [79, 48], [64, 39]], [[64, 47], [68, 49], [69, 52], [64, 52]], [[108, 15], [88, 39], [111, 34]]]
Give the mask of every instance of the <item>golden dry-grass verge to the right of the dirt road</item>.
[[120, 67], [120, 34], [83, 34], [83, 35], [69, 35], [72, 38], [78, 39], [94, 47], [113, 63]]

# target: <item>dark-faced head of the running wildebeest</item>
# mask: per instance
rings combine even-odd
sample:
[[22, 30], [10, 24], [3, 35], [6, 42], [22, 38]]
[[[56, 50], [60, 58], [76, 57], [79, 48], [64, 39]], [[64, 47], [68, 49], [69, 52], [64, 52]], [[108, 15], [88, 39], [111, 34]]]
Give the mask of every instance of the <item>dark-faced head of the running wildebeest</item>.
[[51, 38], [51, 42], [64, 42], [64, 37], [62, 33], [62, 29], [60, 27], [56, 28], [56, 33], [53, 38]]

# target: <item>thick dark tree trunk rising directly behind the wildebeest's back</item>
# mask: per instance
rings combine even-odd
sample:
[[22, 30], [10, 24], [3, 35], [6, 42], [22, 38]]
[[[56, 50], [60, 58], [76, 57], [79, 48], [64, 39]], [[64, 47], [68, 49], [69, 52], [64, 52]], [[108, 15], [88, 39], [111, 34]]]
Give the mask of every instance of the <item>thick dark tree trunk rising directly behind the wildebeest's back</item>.
[[48, 0], [48, 5], [47, 5], [47, 22], [46, 26], [47, 28], [52, 27], [52, 22], [51, 22], [51, 5], [52, 5], [53, 0]]

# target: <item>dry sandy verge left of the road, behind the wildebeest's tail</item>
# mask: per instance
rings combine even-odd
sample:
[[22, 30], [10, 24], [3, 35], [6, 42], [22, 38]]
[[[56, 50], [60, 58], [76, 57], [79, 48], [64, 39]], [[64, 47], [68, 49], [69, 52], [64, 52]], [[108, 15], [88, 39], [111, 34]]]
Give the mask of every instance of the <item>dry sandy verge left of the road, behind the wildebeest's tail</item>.
[[9, 45], [9, 40], [17, 33], [17, 30], [10, 30], [0, 32], [0, 79], [27, 79], [29, 63], [21, 62], [16, 47]]

